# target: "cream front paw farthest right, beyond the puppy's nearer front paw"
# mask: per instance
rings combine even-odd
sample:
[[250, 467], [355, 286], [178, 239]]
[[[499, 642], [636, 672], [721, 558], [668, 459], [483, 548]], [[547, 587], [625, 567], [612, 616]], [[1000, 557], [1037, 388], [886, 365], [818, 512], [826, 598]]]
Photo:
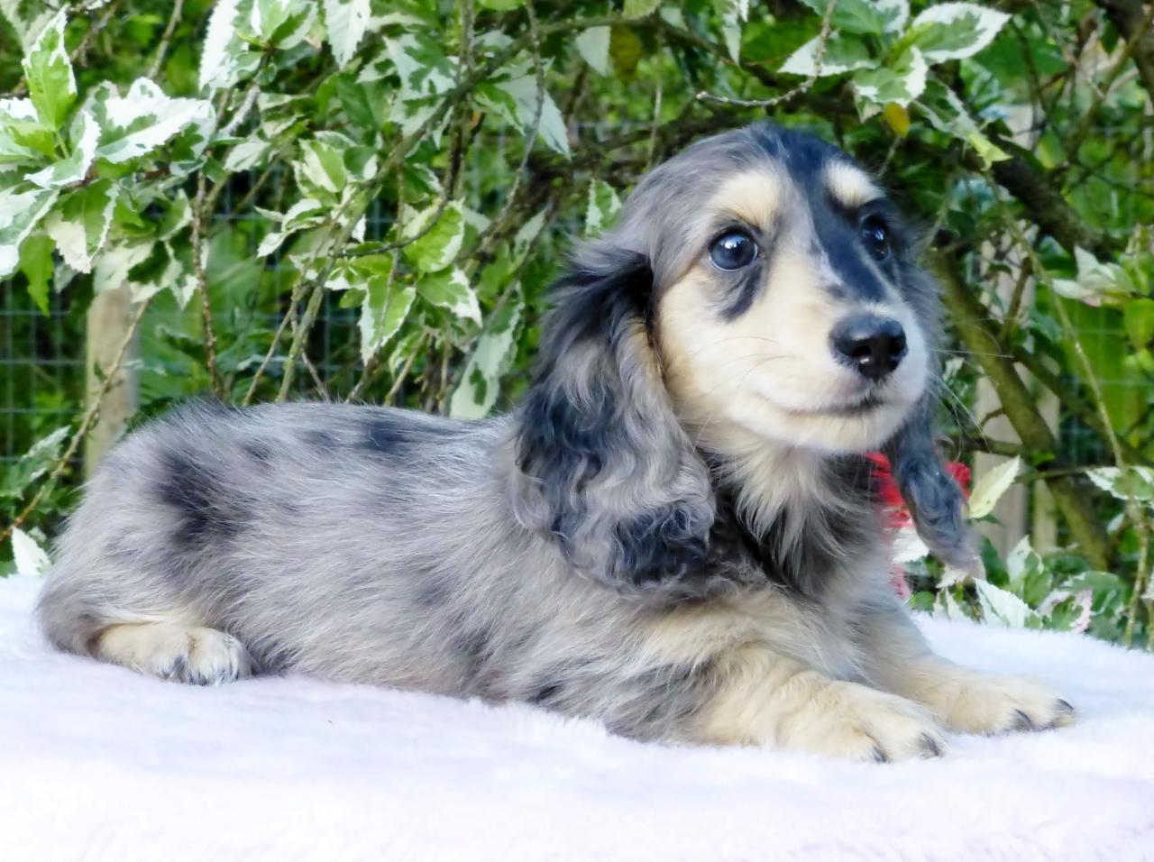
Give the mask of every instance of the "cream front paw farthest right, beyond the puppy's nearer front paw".
[[962, 733], [1048, 730], [1074, 721], [1074, 709], [1069, 702], [1025, 676], [958, 674], [941, 685], [927, 705], [946, 727]]

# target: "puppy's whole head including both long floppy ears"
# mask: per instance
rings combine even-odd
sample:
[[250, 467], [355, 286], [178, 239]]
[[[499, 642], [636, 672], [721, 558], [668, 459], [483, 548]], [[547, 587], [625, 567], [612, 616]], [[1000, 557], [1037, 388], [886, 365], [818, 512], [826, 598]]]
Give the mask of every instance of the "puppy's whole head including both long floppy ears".
[[713, 520], [703, 456], [759, 448], [886, 447], [923, 537], [969, 560], [931, 439], [935, 286], [834, 147], [769, 125], [690, 147], [577, 253], [556, 299], [518, 445], [537, 520], [578, 568], [683, 579]]

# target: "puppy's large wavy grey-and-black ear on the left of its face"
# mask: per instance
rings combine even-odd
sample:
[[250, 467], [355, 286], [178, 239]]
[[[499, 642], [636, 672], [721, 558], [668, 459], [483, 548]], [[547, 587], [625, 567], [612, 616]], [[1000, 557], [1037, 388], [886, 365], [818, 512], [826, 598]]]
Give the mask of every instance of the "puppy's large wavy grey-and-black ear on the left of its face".
[[709, 470], [669, 403], [647, 332], [644, 255], [586, 247], [554, 286], [517, 414], [516, 511], [585, 577], [625, 593], [703, 594]]

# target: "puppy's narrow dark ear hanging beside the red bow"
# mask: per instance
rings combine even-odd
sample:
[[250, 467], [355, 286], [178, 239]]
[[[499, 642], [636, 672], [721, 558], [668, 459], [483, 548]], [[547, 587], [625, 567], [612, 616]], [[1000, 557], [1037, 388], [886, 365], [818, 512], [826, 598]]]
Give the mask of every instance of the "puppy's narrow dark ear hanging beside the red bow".
[[977, 572], [982, 563], [966, 524], [966, 499], [935, 441], [935, 395], [927, 393], [886, 444], [885, 454], [922, 541], [943, 562]]

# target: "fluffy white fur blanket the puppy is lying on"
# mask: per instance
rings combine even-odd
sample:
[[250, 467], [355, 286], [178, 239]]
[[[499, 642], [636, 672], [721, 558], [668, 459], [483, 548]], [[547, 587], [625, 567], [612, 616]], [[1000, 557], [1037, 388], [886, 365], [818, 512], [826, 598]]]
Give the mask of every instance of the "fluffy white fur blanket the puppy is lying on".
[[1069, 729], [852, 765], [673, 749], [527, 706], [301, 677], [217, 688], [53, 652], [0, 579], [0, 859], [1154, 860], [1154, 657], [923, 621]]

